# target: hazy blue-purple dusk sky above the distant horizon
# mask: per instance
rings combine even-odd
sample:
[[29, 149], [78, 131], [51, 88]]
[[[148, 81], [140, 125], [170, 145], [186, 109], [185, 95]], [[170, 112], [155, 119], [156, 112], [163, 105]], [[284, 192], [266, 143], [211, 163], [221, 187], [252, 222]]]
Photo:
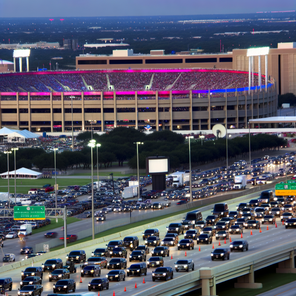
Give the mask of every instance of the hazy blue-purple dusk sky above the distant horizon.
[[295, 0], [0, 0], [0, 17], [200, 15], [296, 10]]

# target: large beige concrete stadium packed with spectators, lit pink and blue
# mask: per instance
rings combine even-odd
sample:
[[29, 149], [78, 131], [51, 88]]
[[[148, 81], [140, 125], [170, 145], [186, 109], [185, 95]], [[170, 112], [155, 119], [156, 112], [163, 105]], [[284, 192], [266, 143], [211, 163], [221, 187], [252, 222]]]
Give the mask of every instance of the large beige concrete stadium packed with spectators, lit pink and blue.
[[[222, 69], [80, 70], [0, 75], [0, 128], [29, 131], [246, 128], [276, 116], [272, 77]], [[267, 84], [267, 88], [265, 88]], [[270, 125], [270, 124], [269, 124]], [[271, 124], [272, 126], [272, 124]]]

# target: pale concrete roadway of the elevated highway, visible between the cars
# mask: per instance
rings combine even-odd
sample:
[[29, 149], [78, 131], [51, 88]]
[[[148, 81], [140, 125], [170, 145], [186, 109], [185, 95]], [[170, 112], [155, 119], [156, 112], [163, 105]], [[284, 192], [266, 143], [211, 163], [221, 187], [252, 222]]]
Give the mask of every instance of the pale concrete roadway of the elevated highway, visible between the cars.
[[[247, 202], [248, 200], [250, 200], [250, 198], [246, 199], [245, 202]], [[243, 202], [243, 201], [242, 201]], [[234, 210], [236, 208], [236, 204], [231, 204], [229, 205], [229, 209], [230, 210]], [[210, 214], [210, 210], [205, 211], [202, 213], [203, 217], [206, 217], [207, 215]], [[175, 222], [179, 222], [179, 221], [175, 221]], [[244, 229], [244, 233], [243, 233], [243, 238], [247, 239], [249, 242], [249, 251], [247, 252], [232, 252], [230, 254], [230, 260], [235, 260], [237, 258], [242, 258], [243, 256], [248, 256], [250, 254], [253, 254], [255, 252], [258, 251], [262, 251], [262, 250], [268, 250], [269, 248], [272, 248], [276, 245], [279, 244], [283, 244], [286, 242], [290, 242], [290, 241], [294, 241], [295, 240], [295, 229], [285, 229], [284, 226], [281, 225], [279, 219], [277, 219], [277, 224], [278, 227], [275, 228], [274, 225], [268, 225], [269, 230], [267, 231], [267, 225], [263, 225], [261, 227], [262, 229], [262, 233], [259, 233], [259, 230], [255, 230], [252, 229], [252, 236], [250, 235], [250, 229], [245, 230]], [[160, 230], [160, 237], [163, 238], [166, 232], [166, 227], [167, 225], [161, 225], [158, 227], [158, 229]], [[134, 234], [131, 235], [137, 235], [140, 239], [140, 244], [143, 243], [143, 240], [141, 238], [141, 232], [136, 232]], [[183, 236], [180, 235], [179, 239], [181, 239]], [[235, 239], [240, 239], [240, 235], [231, 235], [231, 239], [232, 241], [234, 241]], [[213, 241], [214, 246], [218, 247], [218, 241], [214, 240]], [[221, 242], [222, 247], [223, 246], [227, 246], [229, 247], [229, 240], [227, 241], [226, 244], [224, 244], [224, 242]], [[86, 247], [84, 248], [84, 250], [86, 251], [87, 257], [90, 257], [91, 252], [96, 248], [96, 247], [104, 247], [105, 243], [102, 244], [97, 244], [96, 246], [92, 246], [92, 247]], [[173, 255], [173, 259], [171, 260], [170, 256], [169, 257], [165, 257], [165, 266], [171, 266], [174, 268], [174, 262], [178, 259], [182, 259], [182, 258], [192, 258], [194, 259], [195, 262], [195, 269], [201, 268], [201, 267], [214, 267], [214, 266], [218, 266], [221, 264], [224, 264], [225, 261], [219, 261], [219, 260], [214, 260], [212, 261], [210, 258], [210, 253], [212, 251], [212, 244], [211, 245], [206, 245], [206, 244], [201, 244], [200, 245], [200, 249], [201, 251], [198, 251], [198, 245], [195, 243], [194, 246], [194, 250], [187, 250], [187, 257], [185, 257], [185, 251], [184, 250], [177, 250], [177, 247], [170, 247], [170, 256]], [[147, 259], [150, 258], [151, 256], [151, 250], [152, 248], [150, 247], [150, 254], [147, 256]], [[129, 252], [128, 252], [129, 254]], [[65, 260], [65, 256], [67, 254], [63, 254], [60, 255], [60, 258], [62, 258], [63, 260]], [[35, 258], [36, 260], [37, 258]], [[127, 258], [128, 259], [128, 258]], [[43, 262], [36, 262], [34, 263], [34, 266], [41, 266], [41, 263]], [[134, 262], [132, 262], [134, 263]], [[128, 266], [130, 266], [131, 263], [128, 261]], [[87, 277], [83, 277], [83, 283], [79, 283], [80, 280], [80, 269], [79, 269], [79, 265], [77, 265], [78, 269], [77, 269], [77, 273], [76, 274], [71, 274], [71, 278], [75, 279], [76, 281], [76, 292], [86, 292], [88, 291], [88, 283], [89, 281], [91, 281], [91, 278], [87, 278]], [[22, 268], [24, 269], [24, 268]], [[148, 269], [147, 271], [147, 276], [145, 276], [145, 284], [142, 284], [143, 278], [139, 278], [139, 277], [134, 277], [134, 276], [130, 276], [130, 277], [126, 277], [125, 281], [120, 281], [120, 282], [110, 282], [110, 290], [109, 292], [107, 292], [106, 290], [103, 290], [101, 293], [101, 295], [110, 295], [110, 293], [114, 290], [115, 291], [115, 295], [131, 295], [134, 294], [136, 292], [140, 292], [143, 289], [147, 289], [149, 287], [154, 286], [155, 284], [157, 284], [160, 281], [156, 281], [156, 282], [152, 282], [152, 268]], [[101, 277], [104, 277], [107, 272], [109, 270], [107, 269], [102, 269], [101, 270]], [[191, 272], [191, 271], [190, 271]], [[13, 291], [17, 291], [17, 289], [19, 288], [19, 281], [20, 281], [20, 273], [21, 273], [21, 268], [12, 270], [12, 271], [7, 271], [5, 272], [5, 276], [10, 276], [12, 277], [13, 280]], [[184, 274], [184, 272], [180, 271], [180, 272], [174, 272], [174, 277], [178, 277], [181, 276], [182, 274]], [[0, 276], [4, 276], [4, 274], [0, 274]], [[137, 283], [137, 289], [135, 289], [135, 283]], [[52, 293], [52, 286], [53, 286], [53, 282], [49, 282], [48, 281], [48, 274], [44, 273], [44, 280], [42, 282], [43, 286], [44, 286], [44, 292], [43, 295], [45, 295], [45, 293]], [[126, 287], [128, 293], [123, 292], [124, 287]]]

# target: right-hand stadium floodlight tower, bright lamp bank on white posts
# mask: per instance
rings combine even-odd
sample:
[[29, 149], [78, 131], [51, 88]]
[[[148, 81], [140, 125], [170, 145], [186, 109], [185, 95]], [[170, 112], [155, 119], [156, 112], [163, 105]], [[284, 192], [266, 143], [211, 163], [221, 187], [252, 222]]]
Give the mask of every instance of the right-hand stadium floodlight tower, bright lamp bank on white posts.
[[258, 78], [259, 78], [259, 86], [261, 91], [261, 56], [265, 56], [265, 91], [267, 91], [267, 55], [269, 53], [269, 47], [257, 47], [257, 48], [249, 48], [247, 50], [247, 57], [249, 57], [249, 94], [251, 88], [251, 71], [252, 71], [252, 86], [254, 83], [254, 57], [258, 56]]

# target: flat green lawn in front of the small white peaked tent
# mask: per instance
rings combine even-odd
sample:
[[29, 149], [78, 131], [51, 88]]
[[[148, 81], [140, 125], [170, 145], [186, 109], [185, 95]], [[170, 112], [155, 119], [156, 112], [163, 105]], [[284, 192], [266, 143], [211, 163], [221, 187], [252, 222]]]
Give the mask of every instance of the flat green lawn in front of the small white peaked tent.
[[[22, 185], [20, 184], [22, 182]], [[57, 179], [59, 189], [69, 185], [85, 185], [88, 184], [89, 179]], [[46, 184], [54, 186], [54, 178], [51, 179], [17, 179], [17, 193], [28, 194], [30, 188], [41, 188]], [[0, 192], [7, 192], [7, 179], [0, 179]], [[15, 180], [9, 179], [9, 192], [15, 191]]]

